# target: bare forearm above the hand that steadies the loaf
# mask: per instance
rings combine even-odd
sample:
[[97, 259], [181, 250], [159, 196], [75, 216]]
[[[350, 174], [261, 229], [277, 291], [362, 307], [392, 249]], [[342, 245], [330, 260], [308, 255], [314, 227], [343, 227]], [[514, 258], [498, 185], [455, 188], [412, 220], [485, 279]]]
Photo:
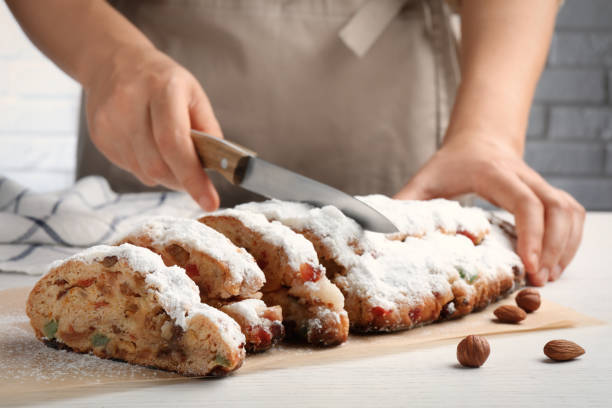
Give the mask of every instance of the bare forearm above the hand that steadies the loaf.
[[[446, 142], [491, 135], [522, 154], [557, 0], [464, 0], [461, 73]], [[500, 140], [501, 139], [501, 140]]]

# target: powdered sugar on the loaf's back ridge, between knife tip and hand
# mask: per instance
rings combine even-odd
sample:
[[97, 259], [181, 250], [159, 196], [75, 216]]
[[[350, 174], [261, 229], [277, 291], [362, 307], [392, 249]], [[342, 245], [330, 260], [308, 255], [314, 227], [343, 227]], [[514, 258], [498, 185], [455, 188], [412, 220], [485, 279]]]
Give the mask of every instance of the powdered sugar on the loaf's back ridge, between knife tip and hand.
[[380, 194], [356, 198], [380, 211], [400, 232], [409, 235], [423, 236], [441, 230], [447, 233], [467, 231], [474, 236], [482, 236], [490, 227], [484, 211], [475, 207], [461, 207], [456, 201], [393, 200]]

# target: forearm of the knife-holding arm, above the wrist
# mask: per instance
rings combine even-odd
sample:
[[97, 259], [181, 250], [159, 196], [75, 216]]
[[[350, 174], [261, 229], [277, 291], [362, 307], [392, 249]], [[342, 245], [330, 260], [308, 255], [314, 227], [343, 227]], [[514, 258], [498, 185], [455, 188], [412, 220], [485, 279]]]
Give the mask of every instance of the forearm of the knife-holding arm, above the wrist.
[[7, 0], [32, 42], [81, 84], [120, 49], [151, 42], [105, 0]]

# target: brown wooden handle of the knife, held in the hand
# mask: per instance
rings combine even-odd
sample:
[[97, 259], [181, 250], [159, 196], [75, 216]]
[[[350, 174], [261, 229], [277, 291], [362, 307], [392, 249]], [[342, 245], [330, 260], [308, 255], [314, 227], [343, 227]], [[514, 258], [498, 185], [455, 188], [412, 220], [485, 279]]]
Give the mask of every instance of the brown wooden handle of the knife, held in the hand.
[[204, 168], [216, 170], [232, 184], [242, 181], [248, 159], [257, 156], [246, 147], [197, 130], [191, 130], [191, 138]]

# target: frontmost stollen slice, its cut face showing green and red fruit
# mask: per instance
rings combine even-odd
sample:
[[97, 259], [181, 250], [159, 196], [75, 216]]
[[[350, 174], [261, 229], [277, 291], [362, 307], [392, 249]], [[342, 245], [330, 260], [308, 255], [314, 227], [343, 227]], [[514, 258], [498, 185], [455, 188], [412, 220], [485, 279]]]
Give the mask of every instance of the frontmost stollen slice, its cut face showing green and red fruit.
[[130, 244], [52, 264], [26, 311], [47, 344], [183, 375], [224, 375], [245, 356], [239, 325], [202, 304], [182, 268]]

